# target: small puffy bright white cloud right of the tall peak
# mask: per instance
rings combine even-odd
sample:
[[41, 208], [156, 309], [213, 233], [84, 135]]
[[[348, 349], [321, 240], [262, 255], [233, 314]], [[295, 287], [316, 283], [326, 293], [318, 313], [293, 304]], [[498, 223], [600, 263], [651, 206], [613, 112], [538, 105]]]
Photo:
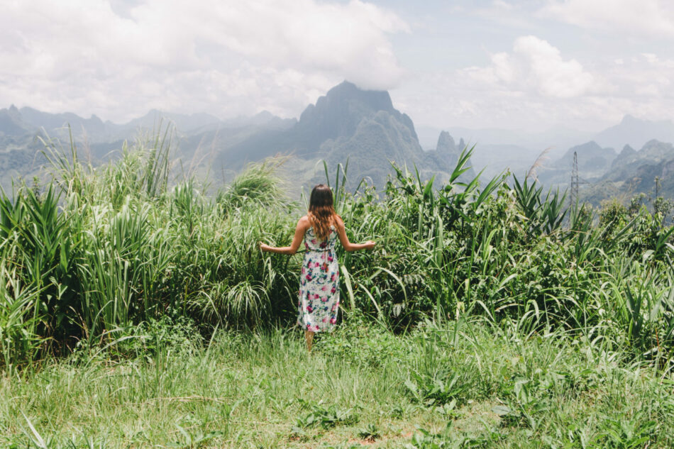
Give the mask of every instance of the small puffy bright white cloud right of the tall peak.
[[558, 48], [532, 35], [517, 38], [512, 53], [496, 53], [491, 62], [487, 67], [468, 67], [462, 72], [492, 87], [533, 89], [548, 97], [580, 96], [595, 87], [595, 77], [580, 62], [564, 60]]

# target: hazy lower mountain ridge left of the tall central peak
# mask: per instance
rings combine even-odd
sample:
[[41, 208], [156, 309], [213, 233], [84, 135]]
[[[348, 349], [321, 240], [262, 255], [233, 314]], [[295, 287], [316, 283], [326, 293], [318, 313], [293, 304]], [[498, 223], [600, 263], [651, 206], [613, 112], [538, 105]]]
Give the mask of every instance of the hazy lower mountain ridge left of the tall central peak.
[[[50, 138], [58, 138], [62, 145], [70, 142], [70, 133], [79, 148], [86, 149], [86, 155], [93, 165], [99, 165], [121, 154], [124, 140], [133, 140], [139, 133], [152, 133], [160, 123], [175, 124], [177, 138], [174, 140], [173, 157], [187, 161], [189, 167], [207, 165], [204, 157], [212, 150], [211, 142], [205, 137], [208, 132], [217, 138], [237, 143], [244, 138], [267, 129], [285, 129], [297, 121], [273, 116], [263, 111], [253, 117], [239, 117], [220, 121], [209, 114], [179, 114], [152, 110], [145, 116], [127, 123], [101, 121], [95, 115], [82, 118], [74, 113], [48, 113], [12, 105], [0, 109], [0, 187], [11, 189], [12, 179], [30, 179], [39, 174], [40, 165], [45, 161], [40, 157], [43, 145], [35, 140], [43, 130]], [[68, 128], [70, 126], [70, 128]], [[211, 157], [212, 159], [212, 157]], [[192, 162], [190, 162], [192, 161]], [[201, 174], [208, 169], [201, 170]]]

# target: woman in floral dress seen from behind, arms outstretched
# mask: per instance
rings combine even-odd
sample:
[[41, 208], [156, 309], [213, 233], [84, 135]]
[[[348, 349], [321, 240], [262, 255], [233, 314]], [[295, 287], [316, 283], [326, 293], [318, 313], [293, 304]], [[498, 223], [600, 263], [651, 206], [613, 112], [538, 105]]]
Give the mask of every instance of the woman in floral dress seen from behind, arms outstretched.
[[311, 350], [314, 333], [332, 331], [339, 309], [339, 266], [335, 242], [347, 251], [372, 249], [375, 242], [350, 243], [341, 217], [333, 208], [332, 191], [325, 184], [311, 190], [309, 211], [297, 222], [290, 246], [281, 248], [260, 243], [260, 249], [293, 255], [304, 240], [304, 261], [299, 279], [297, 324], [304, 328], [306, 348]]

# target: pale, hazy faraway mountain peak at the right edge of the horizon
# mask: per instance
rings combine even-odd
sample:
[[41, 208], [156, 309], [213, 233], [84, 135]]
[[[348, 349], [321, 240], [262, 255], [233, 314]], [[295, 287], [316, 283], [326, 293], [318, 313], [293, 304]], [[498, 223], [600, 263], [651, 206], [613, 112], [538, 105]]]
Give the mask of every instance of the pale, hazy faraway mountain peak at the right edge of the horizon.
[[626, 115], [620, 123], [595, 135], [600, 145], [623, 148], [630, 145], [641, 148], [649, 140], [674, 142], [674, 123], [671, 121], [648, 121]]

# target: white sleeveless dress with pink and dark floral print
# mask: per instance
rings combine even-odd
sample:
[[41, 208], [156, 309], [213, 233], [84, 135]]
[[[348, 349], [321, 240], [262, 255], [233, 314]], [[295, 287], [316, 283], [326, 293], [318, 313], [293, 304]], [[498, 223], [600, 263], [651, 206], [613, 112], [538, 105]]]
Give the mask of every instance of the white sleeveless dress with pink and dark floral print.
[[304, 261], [299, 279], [297, 324], [306, 331], [332, 331], [339, 309], [339, 266], [335, 254], [337, 232], [331, 226], [327, 240], [311, 227], [304, 233]]

